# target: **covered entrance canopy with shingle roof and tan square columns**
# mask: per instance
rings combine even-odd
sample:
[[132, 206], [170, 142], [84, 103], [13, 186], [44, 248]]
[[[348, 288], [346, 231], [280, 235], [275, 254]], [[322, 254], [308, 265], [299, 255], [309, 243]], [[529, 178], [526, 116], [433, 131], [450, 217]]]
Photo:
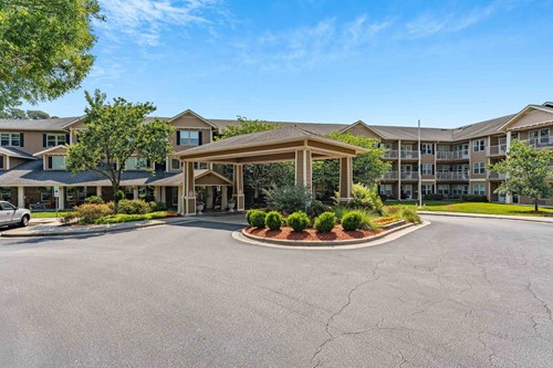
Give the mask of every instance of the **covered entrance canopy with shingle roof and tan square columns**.
[[353, 182], [352, 159], [366, 149], [323, 137], [299, 127], [252, 133], [217, 140], [184, 150], [184, 213], [196, 213], [194, 162], [230, 164], [234, 167], [233, 197], [238, 210], [244, 209], [244, 164], [295, 162], [295, 183], [311, 191], [312, 160], [340, 159], [340, 198], [351, 198]]

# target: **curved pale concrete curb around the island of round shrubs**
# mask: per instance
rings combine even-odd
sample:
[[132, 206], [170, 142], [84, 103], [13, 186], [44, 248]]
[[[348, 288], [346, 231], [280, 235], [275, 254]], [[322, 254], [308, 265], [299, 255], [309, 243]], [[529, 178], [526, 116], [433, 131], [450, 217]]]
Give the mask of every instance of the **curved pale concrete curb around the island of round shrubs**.
[[[312, 242], [312, 241], [293, 241], [293, 240], [281, 240], [281, 239], [265, 239], [258, 238], [253, 235], [246, 235], [242, 230], [234, 231], [232, 233], [232, 238], [247, 244], [259, 245], [259, 246], [269, 246], [269, 248], [278, 248], [278, 249], [292, 249], [292, 250], [352, 250], [352, 249], [361, 249], [367, 246], [374, 246], [390, 242], [393, 240], [399, 239], [413, 231], [422, 229], [424, 227], [430, 224], [429, 221], [422, 221], [421, 224], [407, 223], [401, 227], [393, 228], [386, 232], [382, 232], [375, 236], [366, 238], [366, 239], [355, 239], [355, 240], [346, 240], [342, 241], [340, 244], [337, 241], [334, 241], [328, 244], [328, 242]], [[300, 243], [301, 242], [301, 243]], [[344, 242], [347, 242], [344, 243]], [[307, 243], [307, 244], [304, 244]], [[319, 244], [319, 245], [317, 245]], [[324, 245], [322, 245], [324, 244]]]

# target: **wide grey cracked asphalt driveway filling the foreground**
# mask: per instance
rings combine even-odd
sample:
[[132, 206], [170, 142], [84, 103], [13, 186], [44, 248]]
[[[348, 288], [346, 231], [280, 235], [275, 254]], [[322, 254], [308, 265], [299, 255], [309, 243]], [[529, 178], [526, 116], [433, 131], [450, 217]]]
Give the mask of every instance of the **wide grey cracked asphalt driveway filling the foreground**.
[[553, 225], [280, 250], [195, 222], [0, 240], [1, 367], [551, 367]]

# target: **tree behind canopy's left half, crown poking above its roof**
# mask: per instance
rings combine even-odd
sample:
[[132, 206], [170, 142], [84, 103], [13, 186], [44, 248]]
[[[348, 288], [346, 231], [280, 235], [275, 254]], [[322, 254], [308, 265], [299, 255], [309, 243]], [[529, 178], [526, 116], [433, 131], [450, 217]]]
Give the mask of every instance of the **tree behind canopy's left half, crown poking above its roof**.
[[[243, 134], [272, 130], [276, 124], [264, 123], [260, 119], [248, 119], [238, 116], [239, 125], [228, 126], [219, 139], [226, 139]], [[255, 164], [243, 166], [244, 186], [253, 191], [257, 199], [263, 189], [293, 183], [294, 167], [291, 162]]]

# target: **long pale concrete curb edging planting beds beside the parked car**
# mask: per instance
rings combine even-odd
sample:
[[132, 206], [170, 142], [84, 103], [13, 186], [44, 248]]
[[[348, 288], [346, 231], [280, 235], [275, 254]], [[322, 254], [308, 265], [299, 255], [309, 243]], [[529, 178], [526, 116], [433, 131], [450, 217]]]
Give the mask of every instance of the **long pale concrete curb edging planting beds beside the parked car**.
[[[178, 224], [178, 223], [187, 223], [187, 222], [192, 222], [197, 221], [194, 218], [179, 218], [178, 220], [173, 220], [173, 221], [161, 221], [161, 220], [150, 220], [148, 222], [143, 222], [143, 223], [137, 223], [142, 221], [136, 221], [136, 222], [126, 222], [125, 224], [128, 225], [121, 225], [121, 224], [112, 224], [112, 225], [83, 225], [83, 227], [74, 227], [74, 230], [69, 227], [53, 227], [53, 231], [33, 231], [30, 228], [20, 228], [20, 229], [12, 229], [12, 230], [7, 230], [1, 233], [2, 238], [43, 238], [43, 236], [74, 236], [74, 235], [97, 235], [97, 234], [105, 234], [108, 232], [118, 232], [118, 231], [129, 231], [129, 230], [137, 230], [137, 229], [145, 229], [145, 228], [153, 228], [153, 227], [159, 227], [159, 225], [166, 225], [166, 224]], [[118, 227], [117, 227], [118, 225]], [[85, 228], [86, 229], [79, 229], [79, 228]], [[96, 228], [96, 227], [102, 227], [102, 228]], [[28, 230], [30, 229], [30, 230]], [[63, 232], [63, 230], [69, 229], [69, 231]], [[55, 230], [61, 230], [61, 231], [55, 231]]]

